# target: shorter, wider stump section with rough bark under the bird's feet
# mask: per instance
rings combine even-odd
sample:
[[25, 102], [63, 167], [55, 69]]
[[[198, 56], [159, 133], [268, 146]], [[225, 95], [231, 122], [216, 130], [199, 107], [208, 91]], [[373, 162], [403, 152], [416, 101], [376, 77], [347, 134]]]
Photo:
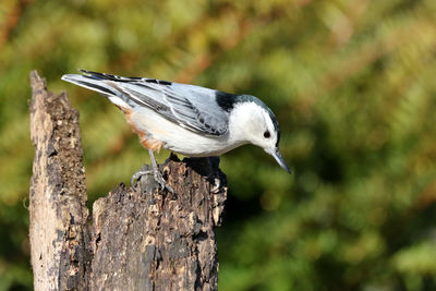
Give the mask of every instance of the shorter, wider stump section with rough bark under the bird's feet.
[[148, 175], [137, 192], [121, 184], [94, 204], [93, 290], [217, 289], [225, 178], [207, 159], [171, 156], [164, 171], [174, 195]]

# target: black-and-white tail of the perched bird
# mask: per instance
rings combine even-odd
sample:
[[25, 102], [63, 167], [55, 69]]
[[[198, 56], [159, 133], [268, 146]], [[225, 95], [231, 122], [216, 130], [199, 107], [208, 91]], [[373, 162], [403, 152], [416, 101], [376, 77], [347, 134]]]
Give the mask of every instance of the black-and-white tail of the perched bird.
[[73, 83], [81, 87], [85, 87], [95, 92], [102, 94], [104, 96], [108, 97], [108, 99], [113, 102], [114, 105], [131, 109], [131, 100], [128, 96], [125, 96], [117, 86], [112, 86], [112, 84], [108, 83], [107, 81], [110, 78], [105, 77], [105, 74], [94, 73], [84, 71], [84, 75], [78, 74], [66, 74], [62, 76], [63, 81]]

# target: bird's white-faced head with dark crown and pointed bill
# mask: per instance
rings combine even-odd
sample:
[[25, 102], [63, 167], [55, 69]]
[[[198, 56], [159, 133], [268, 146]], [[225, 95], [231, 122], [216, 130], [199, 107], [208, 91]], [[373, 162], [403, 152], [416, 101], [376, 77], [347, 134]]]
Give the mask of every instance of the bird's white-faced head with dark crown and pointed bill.
[[277, 118], [262, 100], [251, 95], [239, 96], [230, 114], [230, 128], [243, 142], [262, 147], [291, 173], [279, 151], [280, 129]]

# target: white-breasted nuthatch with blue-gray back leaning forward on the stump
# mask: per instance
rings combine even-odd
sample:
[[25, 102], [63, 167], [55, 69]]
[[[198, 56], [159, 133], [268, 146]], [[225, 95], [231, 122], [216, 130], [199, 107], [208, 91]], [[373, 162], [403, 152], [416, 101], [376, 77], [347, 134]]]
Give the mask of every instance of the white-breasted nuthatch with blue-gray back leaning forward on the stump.
[[[141, 144], [148, 149], [155, 180], [171, 192], [154, 156], [162, 147], [189, 157], [210, 157], [254, 144], [291, 173], [279, 151], [277, 118], [255, 96], [157, 78], [80, 72], [61, 78], [104, 95], [121, 109]], [[135, 180], [149, 173], [135, 173], [132, 187]]]

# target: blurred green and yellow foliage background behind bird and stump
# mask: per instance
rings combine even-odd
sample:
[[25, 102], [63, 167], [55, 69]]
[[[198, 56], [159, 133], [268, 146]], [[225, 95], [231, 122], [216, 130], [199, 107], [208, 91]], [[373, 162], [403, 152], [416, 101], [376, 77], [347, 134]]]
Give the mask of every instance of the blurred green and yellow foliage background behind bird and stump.
[[[87, 69], [261, 97], [287, 174], [221, 159], [220, 290], [436, 290], [436, 1], [0, 2], [0, 290], [31, 290], [31, 70], [81, 113], [92, 202], [148, 154]], [[162, 162], [169, 153], [160, 153]]]

